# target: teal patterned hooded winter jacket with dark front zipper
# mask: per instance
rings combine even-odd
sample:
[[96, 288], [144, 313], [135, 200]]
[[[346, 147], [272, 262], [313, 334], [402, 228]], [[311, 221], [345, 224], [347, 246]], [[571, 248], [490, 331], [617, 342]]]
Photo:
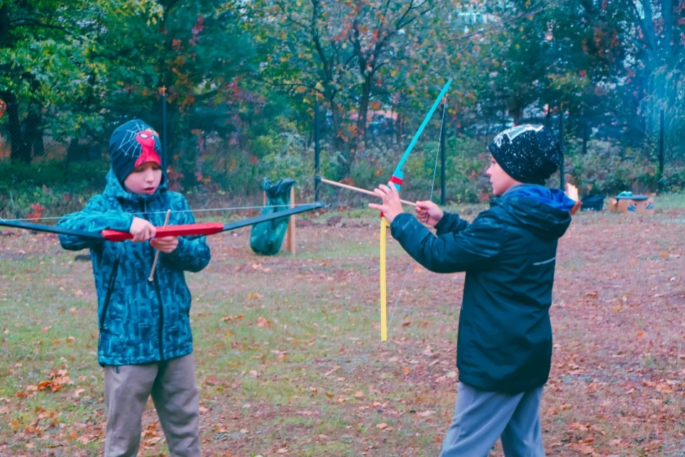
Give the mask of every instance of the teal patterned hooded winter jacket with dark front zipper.
[[[123, 188], [113, 172], [105, 191], [88, 201], [81, 212], [59, 221], [76, 230], [128, 232], [133, 217], [164, 225], [195, 222], [185, 197], [166, 187], [166, 178], [153, 195]], [[191, 292], [184, 272], [199, 272], [210, 261], [205, 237], [179, 237], [170, 254], [161, 252], [154, 279], [148, 281], [156, 250], [149, 242], [109, 242], [60, 235], [67, 250], [90, 249], [98, 294], [98, 362], [134, 365], [191, 354], [193, 337], [189, 312]]]

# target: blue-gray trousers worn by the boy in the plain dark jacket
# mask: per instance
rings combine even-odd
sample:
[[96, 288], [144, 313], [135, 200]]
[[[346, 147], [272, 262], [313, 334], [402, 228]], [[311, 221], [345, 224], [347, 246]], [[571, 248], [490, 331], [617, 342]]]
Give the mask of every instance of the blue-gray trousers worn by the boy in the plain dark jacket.
[[506, 457], [544, 457], [540, 430], [542, 387], [500, 394], [459, 383], [452, 425], [440, 457], [487, 457], [502, 438]]

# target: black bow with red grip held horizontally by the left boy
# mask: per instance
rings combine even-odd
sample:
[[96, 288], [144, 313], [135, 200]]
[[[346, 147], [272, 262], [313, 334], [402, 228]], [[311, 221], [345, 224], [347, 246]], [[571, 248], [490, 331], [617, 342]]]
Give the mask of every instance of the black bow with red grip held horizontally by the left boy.
[[[215, 235], [216, 233], [228, 232], [228, 230], [235, 230], [240, 227], [247, 227], [248, 225], [255, 225], [260, 222], [267, 222], [280, 217], [288, 217], [299, 214], [300, 212], [307, 212], [317, 210], [324, 207], [323, 202], [310, 203], [308, 205], [300, 205], [288, 210], [276, 211], [267, 215], [260, 215], [257, 217], [249, 217], [248, 219], [238, 220], [235, 222], [199, 222], [196, 224], [186, 225], [169, 225], [168, 227], [157, 227], [157, 237], [188, 237], [192, 235]], [[65, 227], [56, 227], [54, 225], [36, 224], [34, 222], [19, 222], [14, 220], [0, 219], [0, 226], [14, 227], [24, 230], [36, 230], [38, 232], [56, 233], [58, 235], [71, 235], [76, 237], [90, 238], [94, 240], [107, 241], [125, 241], [131, 240], [133, 235], [128, 232], [119, 232], [118, 230], [103, 230], [102, 232], [88, 232], [86, 230], [73, 230]]]

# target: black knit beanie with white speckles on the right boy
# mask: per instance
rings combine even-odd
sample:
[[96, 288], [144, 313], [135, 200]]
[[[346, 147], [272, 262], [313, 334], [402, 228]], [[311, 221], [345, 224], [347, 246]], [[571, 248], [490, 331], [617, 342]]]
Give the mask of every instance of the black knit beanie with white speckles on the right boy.
[[543, 125], [524, 124], [504, 130], [487, 149], [512, 178], [512, 184], [543, 185], [563, 160], [557, 138]]

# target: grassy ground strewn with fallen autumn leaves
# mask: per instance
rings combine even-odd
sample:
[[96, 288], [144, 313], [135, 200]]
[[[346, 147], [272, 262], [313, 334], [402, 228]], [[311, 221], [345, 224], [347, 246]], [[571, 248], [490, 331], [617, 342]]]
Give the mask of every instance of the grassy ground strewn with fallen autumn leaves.
[[[654, 216], [579, 213], [559, 243], [549, 456], [685, 456], [685, 199]], [[459, 207], [474, 217], [482, 207]], [[298, 255], [210, 237], [188, 274], [205, 456], [437, 456], [457, 394], [464, 274], [388, 248], [380, 342], [378, 221], [311, 216]], [[0, 236], [0, 456], [96, 456], [103, 374], [89, 262], [53, 235]], [[151, 406], [141, 456], [168, 456]], [[499, 446], [491, 453], [501, 456]]]

